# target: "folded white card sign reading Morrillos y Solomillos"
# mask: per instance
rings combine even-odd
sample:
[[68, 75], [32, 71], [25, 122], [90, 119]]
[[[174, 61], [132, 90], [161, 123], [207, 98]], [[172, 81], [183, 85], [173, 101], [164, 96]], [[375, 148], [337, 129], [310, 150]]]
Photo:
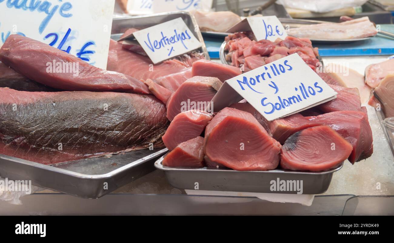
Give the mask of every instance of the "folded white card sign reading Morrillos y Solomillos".
[[226, 80], [212, 104], [216, 112], [245, 98], [273, 121], [333, 100], [336, 95], [295, 53]]

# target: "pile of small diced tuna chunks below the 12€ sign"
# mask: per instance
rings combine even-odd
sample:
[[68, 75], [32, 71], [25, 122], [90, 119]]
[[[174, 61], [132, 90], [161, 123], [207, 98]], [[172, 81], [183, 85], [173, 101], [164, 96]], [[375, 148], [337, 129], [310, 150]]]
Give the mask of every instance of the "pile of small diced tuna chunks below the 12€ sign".
[[319, 55], [318, 48], [313, 48], [308, 38], [287, 36], [284, 40], [278, 38], [274, 42], [255, 41], [253, 32], [238, 32], [228, 35], [225, 41], [226, 61], [234, 67], [242, 67], [245, 72], [294, 53], [314, 71], [320, 65], [316, 58]]

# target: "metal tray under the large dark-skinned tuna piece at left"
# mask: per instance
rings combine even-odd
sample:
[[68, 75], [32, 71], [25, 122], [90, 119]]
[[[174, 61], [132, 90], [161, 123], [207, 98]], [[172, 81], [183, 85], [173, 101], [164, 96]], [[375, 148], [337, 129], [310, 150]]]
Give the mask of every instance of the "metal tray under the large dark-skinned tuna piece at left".
[[154, 171], [153, 161], [167, 151], [145, 149], [55, 165], [0, 154], [0, 176], [31, 180], [33, 185], [77, 197], [99, 198]]

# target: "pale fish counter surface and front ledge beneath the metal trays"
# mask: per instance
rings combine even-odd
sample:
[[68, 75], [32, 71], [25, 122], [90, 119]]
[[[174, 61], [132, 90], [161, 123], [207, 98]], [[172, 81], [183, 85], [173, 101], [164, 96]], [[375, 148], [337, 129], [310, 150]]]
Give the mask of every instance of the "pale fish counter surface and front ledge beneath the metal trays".
[[[345, 63], [363, 74], [367, 65], [384, 61], [387, 57], [327, 57], [323, 58], [323, 61]], [[164, 172], [156, 170], [98, 199], [83, 199], [44, 190], [21, 197], [18, 205], [9, 203], [15, 195], [6, 195], [3, 192], [3, 195], [0, 194], [0, 214], [394, 215], [394, 161], [375, 109], [371, 106], [367, 106], [367, 109], [374, 139], [374, 153], [355, 165], [345, 161], [342, 169], [333, 174], [328, 190], [322, 195], [310, 198], [313, 200], [310, 206], [291, 203], [289, 201], [302, 200], [289, 199], [283, 195], [273, 197], [270, 194], [223, 192], [207, 195], [198, 190], [185, 191], [172, 187]], [[18, 200], [13, 202], [17, 203]]]

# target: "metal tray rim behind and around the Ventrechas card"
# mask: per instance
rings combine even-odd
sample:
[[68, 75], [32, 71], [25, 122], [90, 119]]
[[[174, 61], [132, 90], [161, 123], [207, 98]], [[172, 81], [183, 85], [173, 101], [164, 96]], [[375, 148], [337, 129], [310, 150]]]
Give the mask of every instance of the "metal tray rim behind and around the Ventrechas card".
[[[193, 15], [187, 12], [167, 12], [167, 13], [159, 13], [159, 14], [151, 14], [151, 15], [142, 15], [142, 16], [128, 16], [119, 19], [113, 19], [112, 21], [112, 30], [111, 30], [111, 38], [115, 41], [119, 40], [121, 35], [125, 33], [125, 30], [128, 28], [137, 28], [137, 29], [145, 29], [156, 24], [160, 24], [169, 20], [182, 18], [186, 25], [189, 27], [191, 33], [203, 44], [197, 50], [200, 53], [203, 53], [205, 59], [210, 60], [208, 51], [206, 50], [206, 46], [204, 43], [203, 35], [199, 28], [195, 28], [197, 26], [197, 22]], [[197, 32], [195, 31], [197, 29]]]

